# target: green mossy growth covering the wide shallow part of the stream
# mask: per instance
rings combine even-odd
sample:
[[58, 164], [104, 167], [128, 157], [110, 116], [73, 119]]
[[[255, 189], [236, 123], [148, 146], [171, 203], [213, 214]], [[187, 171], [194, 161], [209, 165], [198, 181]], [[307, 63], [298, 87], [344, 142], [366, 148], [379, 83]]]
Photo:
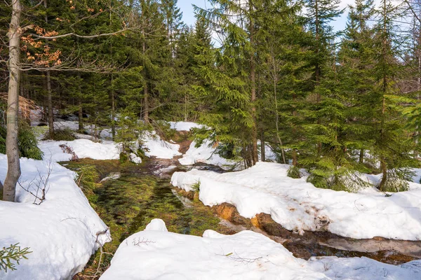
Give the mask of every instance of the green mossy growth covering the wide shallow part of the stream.
[[[109, 253], [114, 253], [121, 242], [133, 233], [144, 230], [154, 218], [161, 218], [169, 231], [182, 234], [201, 236], [208, 229], [220, 232], [225, 230], [219, 225], [220, 220], [212, 209], [201, 202], [193, 202], [193, 207], [185, 208], [173, 195], [168, 181], [148, 175], [152, 172], [147, 169], [147, 165], [121, 165], [119, 160], [88, 159], [65, 164], [78, 174], [89, 171], [85, 180], [93, 188], [82, 190], [102, 221], [110, 228], [112, 242], [104, 246], [104, 250]], [[119, 179], [100, 183], [105, 176], [115, 172], [120, 172]], [[105, 256], [103, 269], [107, 268], [111, 258], [111, 255]], [[98, 260], [97, 252], [83, 271], [84, 276], [95, 274]]]

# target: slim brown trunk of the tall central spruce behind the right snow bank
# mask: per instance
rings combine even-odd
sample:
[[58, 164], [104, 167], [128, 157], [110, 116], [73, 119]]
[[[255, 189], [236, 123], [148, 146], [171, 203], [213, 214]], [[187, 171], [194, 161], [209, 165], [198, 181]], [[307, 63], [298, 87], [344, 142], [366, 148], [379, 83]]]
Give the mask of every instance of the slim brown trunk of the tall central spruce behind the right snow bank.
[[[251, 0], [248, 1], [250, 8], [250, 45], [251, 48], [254, 48], [254, 21], [251, 11], [253, 10], [253, 3]], [[255, 54], [254, 52], [250, 57], [250, 83], [251, 83], [251, 115], [253, 116], [253, 127], [251, 132], [252, 137], [252, 148], [251, 148], [251, 159], [252, 165], [255, 165], [259, 161], [258, 155], [258, 126], [257, 126], [257, 117], [256, 117], [256, 64], [255, 64]]]

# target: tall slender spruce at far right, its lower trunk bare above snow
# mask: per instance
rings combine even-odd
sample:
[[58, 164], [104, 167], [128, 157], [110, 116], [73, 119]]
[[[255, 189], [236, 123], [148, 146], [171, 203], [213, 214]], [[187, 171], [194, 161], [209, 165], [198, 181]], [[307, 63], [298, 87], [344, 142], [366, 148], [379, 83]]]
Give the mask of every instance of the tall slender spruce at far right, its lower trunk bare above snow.
[[394, 45], [396, 31], [394, 18], [399, 16], [399, 7], [383, 0], [379, 20], [375, 25], [375, 88], [370, 94], [370, 119], [373, 125], [372, 153], [380, 162], [382, 180], [378, 188], [382, 191], [406, 190], [411, 172], [408, 167], [414, 164], [411, 151], [413, 141], [405, 132], [402, 114], [403, 102], [407, 98], [396, 87], [395, 80], [402, 73], [402, 64], [396, 58], [399, 48]]

